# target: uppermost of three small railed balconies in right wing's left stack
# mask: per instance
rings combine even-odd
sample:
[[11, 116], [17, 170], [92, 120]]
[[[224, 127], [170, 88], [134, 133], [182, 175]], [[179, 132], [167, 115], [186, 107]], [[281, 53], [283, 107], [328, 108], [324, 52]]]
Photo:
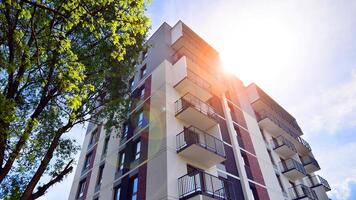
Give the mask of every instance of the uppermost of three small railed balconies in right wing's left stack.
[[283, 136], [278, 136], [271, 140], [273, 150], [283, 158], [290, 158], [297, 153], [297, 150], [292, 142]]

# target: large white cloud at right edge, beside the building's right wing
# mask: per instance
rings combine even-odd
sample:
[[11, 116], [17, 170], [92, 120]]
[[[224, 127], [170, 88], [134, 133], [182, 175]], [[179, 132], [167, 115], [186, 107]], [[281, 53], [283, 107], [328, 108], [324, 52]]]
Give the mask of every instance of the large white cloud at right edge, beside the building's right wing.
[[311, 134], [335, 134], [356, 127], [356, 71], [351, 72], [349, 81], [315, 92], [292, 110], [303, 129]]

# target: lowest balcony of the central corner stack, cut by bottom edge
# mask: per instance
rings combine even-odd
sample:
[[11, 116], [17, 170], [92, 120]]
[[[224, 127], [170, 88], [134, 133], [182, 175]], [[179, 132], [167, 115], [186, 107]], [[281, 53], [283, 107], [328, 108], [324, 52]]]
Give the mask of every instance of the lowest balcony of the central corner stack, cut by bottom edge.
[[202, 171], [193, 171], [178, 179], [179, 199], [230, 200], [231, 183]]

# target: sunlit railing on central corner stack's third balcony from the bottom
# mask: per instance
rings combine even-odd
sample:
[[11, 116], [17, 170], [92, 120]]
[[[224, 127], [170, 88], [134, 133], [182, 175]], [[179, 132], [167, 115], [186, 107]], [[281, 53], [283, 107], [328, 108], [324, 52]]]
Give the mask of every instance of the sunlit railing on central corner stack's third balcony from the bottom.
[[192, 107], [196, 109], [197, 111], [203, 113], [204, 115], [207, 115], [210, 118], [215, 118], [216, 117], [216, 112], [213, 107], [211, 107], [208, 103], [203, 102], [200, 100], [198, 97], [187, 93], [180, 99], [178, 99], [176, 102], [176, 115], [181, 113], [183, 110]]

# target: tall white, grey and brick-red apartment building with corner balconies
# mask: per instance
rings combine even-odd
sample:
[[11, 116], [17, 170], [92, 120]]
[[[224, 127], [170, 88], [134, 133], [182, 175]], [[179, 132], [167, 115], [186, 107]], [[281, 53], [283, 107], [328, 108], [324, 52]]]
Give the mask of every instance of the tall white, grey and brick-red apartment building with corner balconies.
[[181, 21], [148, 42], [129, 120], [89, 125], [70, 200], [328, 200], [293, 116]]

